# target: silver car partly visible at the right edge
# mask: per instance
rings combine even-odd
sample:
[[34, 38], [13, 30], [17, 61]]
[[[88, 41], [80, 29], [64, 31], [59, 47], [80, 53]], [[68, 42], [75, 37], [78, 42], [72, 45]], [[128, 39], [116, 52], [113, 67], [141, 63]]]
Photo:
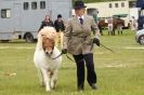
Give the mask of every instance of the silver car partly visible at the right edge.
[[135, 40], [138, 43], [144, 45], [144, 29], [138, 30], [138, 32], [135, 35]]

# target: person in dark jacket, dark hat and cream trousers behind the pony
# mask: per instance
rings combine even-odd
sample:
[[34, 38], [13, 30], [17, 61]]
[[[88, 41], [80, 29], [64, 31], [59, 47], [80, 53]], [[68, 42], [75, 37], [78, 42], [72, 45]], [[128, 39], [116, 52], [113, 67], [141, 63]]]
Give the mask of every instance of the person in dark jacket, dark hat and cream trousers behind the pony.
[[61, 48], [63, 48], [63, 36], [64, 36], [65, 25], [61, 14], [57, 15], [57, 19], [54, 22], [54, 27], [56, 29], [55, 46], [58, 46], [58, 42], [61, 41]]

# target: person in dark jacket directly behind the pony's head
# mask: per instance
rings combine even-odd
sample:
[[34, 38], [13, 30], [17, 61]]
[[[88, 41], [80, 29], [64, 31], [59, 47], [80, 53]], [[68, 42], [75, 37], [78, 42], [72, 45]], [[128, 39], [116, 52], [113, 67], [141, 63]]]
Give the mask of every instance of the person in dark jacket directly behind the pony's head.
[[45, 27], [45, 26], [52, 26], [52, 27], [54, 27], [53, 22], [51, 21], [51, 18], [50, 18], [49, 15], [45, 15], [44, 21], [43, 21], [43, 22], [41, 23], [41, 25], [40, 25], [39, 31], [40, 31], [43, 27]]

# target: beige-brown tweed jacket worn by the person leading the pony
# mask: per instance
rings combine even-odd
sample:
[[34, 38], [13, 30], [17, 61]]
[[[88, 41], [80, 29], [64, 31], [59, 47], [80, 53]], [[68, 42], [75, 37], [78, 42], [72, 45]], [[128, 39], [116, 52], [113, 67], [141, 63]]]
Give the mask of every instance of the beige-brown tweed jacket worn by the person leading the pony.
[[73, 55], [91, 53], [92, 30], [99, 30], [92, 16], [84, 15], [82, 25], [77, 16], [71, 17], [64, 33], [64, 49]]

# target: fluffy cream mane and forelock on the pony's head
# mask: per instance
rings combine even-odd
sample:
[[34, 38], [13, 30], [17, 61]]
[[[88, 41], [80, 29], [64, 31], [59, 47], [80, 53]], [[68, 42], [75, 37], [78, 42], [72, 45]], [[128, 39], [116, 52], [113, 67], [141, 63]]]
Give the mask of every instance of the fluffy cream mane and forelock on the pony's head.
[[49, 38], [49, 39], [55, 40], [55, 37], [56, 37], [55, 28], [53, 28], [53, 27], [43, 27], [38, 33], [37, 49], [39, 49], [39, 50], [42, 49], [43, 38]]

